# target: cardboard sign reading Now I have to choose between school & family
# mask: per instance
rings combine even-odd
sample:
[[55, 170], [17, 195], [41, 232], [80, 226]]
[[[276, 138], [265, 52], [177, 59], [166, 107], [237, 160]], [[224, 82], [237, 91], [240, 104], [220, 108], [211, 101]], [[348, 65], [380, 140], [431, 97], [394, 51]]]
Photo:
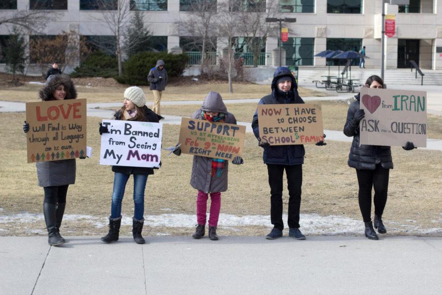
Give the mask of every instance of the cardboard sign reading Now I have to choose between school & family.
[[271, 146], [316, 144], [324, 140], [317, 104], [258, 105], [259, 136]]

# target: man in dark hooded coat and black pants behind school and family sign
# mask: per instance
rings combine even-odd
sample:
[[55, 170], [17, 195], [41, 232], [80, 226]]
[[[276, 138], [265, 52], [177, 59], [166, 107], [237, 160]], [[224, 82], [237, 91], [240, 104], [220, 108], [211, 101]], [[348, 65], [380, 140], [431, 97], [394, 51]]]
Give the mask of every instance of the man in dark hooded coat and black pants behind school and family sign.
[[[291, 71], [285, 67], [275, 70], [272, 81], [272, 93], [261, 98], [258, 104], [300, 104], [304, 103], [298, 94], [298, 85]], [[304, 145], [274, 145], [261, 141], [259, 135], [258, 110], [252, 121], [253, 133], [258, 139], [258, 145], [264, 148], [263, 160], [267, 164], [270, 184], [270, 219], [274, 228], [266, 236], [267, 239], [276, 239], [282, 236], [284, 223], [282, 221], [282, 177], [287, 175], [289, 190], [288, 226], [289, 236], [296, 239], [305, 239], [299, 230], [299, 212], [301, 207], [301, 186], [303, 182]], [[324, 135], [325, 137], [325, 135]], [[316, 143], [326, 145], [324, 141]]]

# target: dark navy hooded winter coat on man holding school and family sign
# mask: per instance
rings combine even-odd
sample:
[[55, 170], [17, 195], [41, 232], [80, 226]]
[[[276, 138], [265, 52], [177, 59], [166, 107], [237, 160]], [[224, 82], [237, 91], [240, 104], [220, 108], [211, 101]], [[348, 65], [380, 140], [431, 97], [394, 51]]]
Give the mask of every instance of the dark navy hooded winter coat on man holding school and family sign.
[[[290, 77], [292, 79], [292, 88], [289, 92], [284, 93], [278, 90], [276, 81], [281, 77]], [[272, 93], [261, 98], [258, 104], [288, 103], [304, 103], [304, 100], [298, 94], [298, 85], [290, 70], [287, 67], [278, 67], [273, 75]], [[259, 140], [258, 110], [255, 111], [255, 115], [253, 116], [252, 128], [255, 137]], [[304, 145], [284, 145], [264, 148], [262, 158], [265, 164], [291, 166], [304, 164], [304, 155]]]

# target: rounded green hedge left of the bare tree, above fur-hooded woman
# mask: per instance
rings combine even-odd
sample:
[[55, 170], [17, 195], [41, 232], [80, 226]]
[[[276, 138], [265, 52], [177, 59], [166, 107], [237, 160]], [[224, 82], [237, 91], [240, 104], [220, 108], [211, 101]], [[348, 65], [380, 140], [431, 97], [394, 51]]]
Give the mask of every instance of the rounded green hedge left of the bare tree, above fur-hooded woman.
[[71, 73], [73, 78], [103, 77], [113, 78], [118, 75], [118, 61], [102, 51], [95, 51]]

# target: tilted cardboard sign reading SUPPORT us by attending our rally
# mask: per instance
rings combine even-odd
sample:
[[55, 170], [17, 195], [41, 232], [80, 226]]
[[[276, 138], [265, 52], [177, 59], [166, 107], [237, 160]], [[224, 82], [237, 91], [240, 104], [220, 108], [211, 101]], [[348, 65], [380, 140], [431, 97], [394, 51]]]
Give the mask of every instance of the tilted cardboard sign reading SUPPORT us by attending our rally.
[[181, 152], [224, 160], [243, 155], [246, 126], [181, 118]]

